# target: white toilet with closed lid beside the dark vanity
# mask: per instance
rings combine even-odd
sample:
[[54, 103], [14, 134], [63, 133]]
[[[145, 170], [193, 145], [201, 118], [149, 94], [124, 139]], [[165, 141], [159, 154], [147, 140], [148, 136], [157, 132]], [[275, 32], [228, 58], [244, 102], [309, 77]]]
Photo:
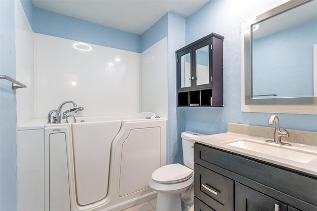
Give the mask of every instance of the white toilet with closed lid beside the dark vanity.
[[182, 132], [184, 164], [170, 164], [156, 169], [149, 185], [158, 192], [157, 211], [194, 210], [194, 142], [190, 139], [203, 136], [197, 132]]

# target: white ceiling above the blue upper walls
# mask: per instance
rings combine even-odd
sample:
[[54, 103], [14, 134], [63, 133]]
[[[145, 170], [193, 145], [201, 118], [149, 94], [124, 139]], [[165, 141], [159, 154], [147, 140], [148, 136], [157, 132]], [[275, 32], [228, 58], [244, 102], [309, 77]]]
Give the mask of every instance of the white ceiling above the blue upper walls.
[[188, 17], [210, 0], [32, 0], [34, 6], [141, 35], [167, 12]]

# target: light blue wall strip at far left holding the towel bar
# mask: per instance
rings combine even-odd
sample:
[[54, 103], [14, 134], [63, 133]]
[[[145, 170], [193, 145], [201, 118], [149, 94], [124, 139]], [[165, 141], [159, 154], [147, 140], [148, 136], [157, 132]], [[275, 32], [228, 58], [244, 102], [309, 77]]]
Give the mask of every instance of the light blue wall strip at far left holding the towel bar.
[[[15, 78], [14, 0], [0, 0], [0, 75]], [[16, 210], [16, 96], [0, 80], [0, 210]]]

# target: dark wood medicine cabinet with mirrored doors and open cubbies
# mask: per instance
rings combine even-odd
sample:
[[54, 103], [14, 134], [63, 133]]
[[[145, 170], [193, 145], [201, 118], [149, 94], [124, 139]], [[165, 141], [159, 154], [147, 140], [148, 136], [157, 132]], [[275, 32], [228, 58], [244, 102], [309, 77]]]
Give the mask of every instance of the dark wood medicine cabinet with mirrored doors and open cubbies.
[[176, 51], [177, 106], [223, 106], [223, 39], [211, 33]]

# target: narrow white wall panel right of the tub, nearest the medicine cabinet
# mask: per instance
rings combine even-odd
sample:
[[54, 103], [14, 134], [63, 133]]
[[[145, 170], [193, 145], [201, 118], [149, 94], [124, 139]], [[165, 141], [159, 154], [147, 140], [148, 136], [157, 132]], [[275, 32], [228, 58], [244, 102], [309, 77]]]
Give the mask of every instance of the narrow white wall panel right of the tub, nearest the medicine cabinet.
[[168, 115], [167, 37], [141, 54], [141, 111]]

